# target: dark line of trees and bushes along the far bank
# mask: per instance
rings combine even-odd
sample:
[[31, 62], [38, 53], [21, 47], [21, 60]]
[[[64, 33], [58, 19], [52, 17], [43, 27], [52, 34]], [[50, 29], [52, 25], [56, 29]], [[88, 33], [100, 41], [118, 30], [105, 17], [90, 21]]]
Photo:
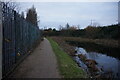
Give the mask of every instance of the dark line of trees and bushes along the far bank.
[[[78, 26], [77, 26], [78, 27]], [[118, 30], [119, 25], [109, 25], [109, 26], [87, 26], [84, 29], [79, 29], [75, 26], [69, 26], [66, 24], [65, 28], [60, 30], [55, 29], [45, 29], [45, 36], [65, 36], [65, 37], [83, 37], [92, 39], [119, 39]]]

